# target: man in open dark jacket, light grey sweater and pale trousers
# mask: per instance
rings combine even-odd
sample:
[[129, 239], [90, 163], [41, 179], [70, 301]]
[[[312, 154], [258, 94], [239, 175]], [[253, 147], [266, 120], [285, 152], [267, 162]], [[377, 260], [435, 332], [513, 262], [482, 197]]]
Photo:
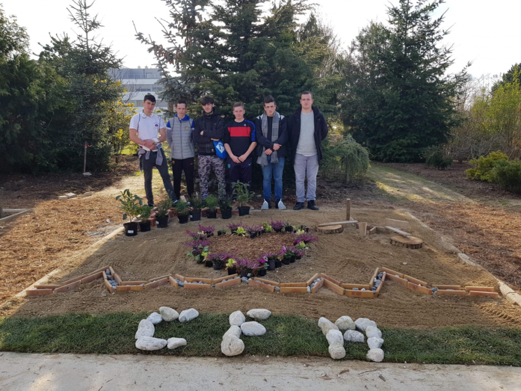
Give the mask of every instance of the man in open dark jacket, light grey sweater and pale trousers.
[[[328, 133], [327, 121], [313, 106], [313, 94], [304, 91], [300, 99], [301, 107], [288, 119], [288, 131], [291, 145], [291, 160], [295, 169], [296, 204], [293, 210], [307, 207], [318, 211], [315, 205], [318, 164], [322, 160], [322, 140]], [[307, 194], [304, 179], [307, 176]]]

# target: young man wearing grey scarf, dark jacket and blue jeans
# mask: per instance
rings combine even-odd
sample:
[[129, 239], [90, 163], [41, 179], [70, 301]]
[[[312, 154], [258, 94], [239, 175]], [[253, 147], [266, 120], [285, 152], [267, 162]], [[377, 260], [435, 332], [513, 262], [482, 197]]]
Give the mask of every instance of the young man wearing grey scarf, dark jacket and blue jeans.
[[282, 172], [288, 153], [288, 130], [286, 118], [276, 109], [274, 97], [268, 95], [264, 98], [264, 114], [255, 119], [257, 164], [261, 165], [264, 178], [264, 203], [261, 210], [271, 207], [271, 178], [275, 180], [275, 207], [280, 210], [286, 209], [282, 203]]

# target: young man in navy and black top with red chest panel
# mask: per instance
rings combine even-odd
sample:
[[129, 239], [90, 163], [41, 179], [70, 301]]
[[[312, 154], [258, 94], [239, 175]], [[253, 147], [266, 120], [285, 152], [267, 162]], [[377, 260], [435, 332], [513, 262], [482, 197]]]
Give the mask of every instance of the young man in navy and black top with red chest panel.
[[228, 152], [227, 164], [230, 182], [243, 182], [251, 188], [252, 157], [257, 142], [255, 141], [255, 125], [244, 118], [244, 104], [233, 104], [235, 120], [226, 124], [222, 141]]

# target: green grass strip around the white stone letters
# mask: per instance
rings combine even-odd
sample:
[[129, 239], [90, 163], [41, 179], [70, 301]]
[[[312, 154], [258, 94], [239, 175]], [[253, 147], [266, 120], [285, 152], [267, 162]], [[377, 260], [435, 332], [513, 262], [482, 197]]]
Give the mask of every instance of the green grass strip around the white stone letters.
[[[0, 318], [0, 350], [60, 353], [143, 353], [135, 348], [134, 333], [146, 313], [105, 315], [67, 314]], [[329, 356], [327, 340], [316, 321], [272, 315], [261, 321], [262, 337], [241, 338], [243, 354], [262, 356]], [[173, 356], [222, 356], [222, 335], [229, 328], [227, 314], [200, 314], [188, 323], [162, 322], [154, 337], [185, 338], [176, 350], [149, 352]], [[387, 362], [488, 364], [521, 366], [521, 328], [450, 327], [414, 330], [381, 327]], [[367, 344], [344, 344], [345, 359], [365, 360]]]

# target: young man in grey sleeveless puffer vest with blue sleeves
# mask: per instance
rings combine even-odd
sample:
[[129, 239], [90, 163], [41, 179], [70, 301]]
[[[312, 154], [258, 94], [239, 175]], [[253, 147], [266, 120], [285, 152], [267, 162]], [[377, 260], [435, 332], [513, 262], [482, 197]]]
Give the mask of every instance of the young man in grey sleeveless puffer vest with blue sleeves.
[[187, 180], [188, 196], [194, 192], [195, 146], [192, 131], [194, 120], [187, 114], [187, 102], [180, 99], [176, 104], [176, 115], [166, 124], [166, 138], [171, 149], [173, 191], [177, 199], [181, 197], [181, 177]]

